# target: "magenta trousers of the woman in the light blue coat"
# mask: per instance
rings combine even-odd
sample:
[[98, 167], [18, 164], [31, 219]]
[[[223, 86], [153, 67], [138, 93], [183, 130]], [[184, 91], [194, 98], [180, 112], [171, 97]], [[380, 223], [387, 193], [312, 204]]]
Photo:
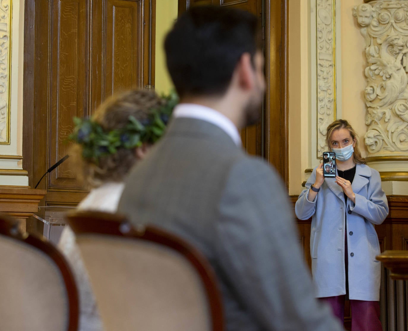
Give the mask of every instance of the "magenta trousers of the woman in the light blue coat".
[[[344, 324], [344, 298], [345, 296], [330, 296], [319, 298], [331, 307], [333, 315]], [[350, 300], [351, 331], [382, 331], [380, 306], [378, 301]]]

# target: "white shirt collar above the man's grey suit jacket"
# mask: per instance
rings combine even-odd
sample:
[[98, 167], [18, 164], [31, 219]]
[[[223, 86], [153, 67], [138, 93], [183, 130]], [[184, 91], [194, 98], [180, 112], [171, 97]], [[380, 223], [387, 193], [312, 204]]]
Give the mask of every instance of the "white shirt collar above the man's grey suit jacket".
[[180, 103], [173, 110], [173, 117], [197, 118], [217, 125], [226, 132], [237, 146], [241, 146], [241, 137], [232, 121], [216, 110], [195, 103]]

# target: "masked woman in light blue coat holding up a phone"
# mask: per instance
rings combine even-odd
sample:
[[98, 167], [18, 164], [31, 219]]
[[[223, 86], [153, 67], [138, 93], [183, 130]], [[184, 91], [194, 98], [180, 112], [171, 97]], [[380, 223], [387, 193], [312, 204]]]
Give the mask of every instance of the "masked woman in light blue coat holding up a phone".
[[313, 169], [295, 205], [299, 219], [312, 217], [310, 254], [317, 297], [344, 321], [350, 299], [352, 331], [382, 331], [379, 321], [381, 265], [374, 224], [388, 215], [381, 178], [361, 157], [358, 136], [345, 120], [327, 128], [326, 144], [336, 154], [335, 178]]

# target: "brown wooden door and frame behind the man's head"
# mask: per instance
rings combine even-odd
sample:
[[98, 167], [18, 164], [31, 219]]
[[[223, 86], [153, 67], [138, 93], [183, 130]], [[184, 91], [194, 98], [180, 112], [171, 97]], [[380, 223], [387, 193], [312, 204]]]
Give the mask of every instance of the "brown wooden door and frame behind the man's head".
[[249, 11], [262, 22], [266, 95], [262, 121], [241, 130], [249, 154], [264, 157], [281, 175], [288, 188], [287, 129], [287, 0], [179, 0], [179, 15], [189, 7], [228, 6]]

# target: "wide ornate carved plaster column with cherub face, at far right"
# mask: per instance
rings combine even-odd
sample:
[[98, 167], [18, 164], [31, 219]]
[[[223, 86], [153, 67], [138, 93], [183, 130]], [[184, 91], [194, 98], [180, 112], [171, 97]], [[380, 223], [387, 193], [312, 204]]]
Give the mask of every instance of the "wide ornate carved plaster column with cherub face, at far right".
[[408, 1], [371, 1], [353, 8], [365, 40], [369, 153], [408, 152]]

